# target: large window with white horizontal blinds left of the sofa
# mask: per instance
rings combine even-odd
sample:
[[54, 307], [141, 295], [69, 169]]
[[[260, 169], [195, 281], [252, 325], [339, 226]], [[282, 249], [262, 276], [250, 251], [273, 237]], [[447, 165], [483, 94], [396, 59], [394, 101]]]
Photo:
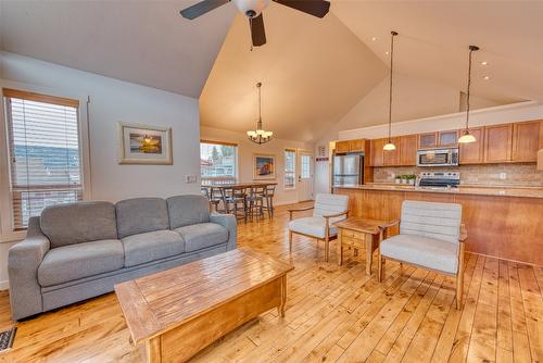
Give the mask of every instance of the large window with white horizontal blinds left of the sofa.
[[3, 89], [13, 229], [83, 199], [78, 101]]

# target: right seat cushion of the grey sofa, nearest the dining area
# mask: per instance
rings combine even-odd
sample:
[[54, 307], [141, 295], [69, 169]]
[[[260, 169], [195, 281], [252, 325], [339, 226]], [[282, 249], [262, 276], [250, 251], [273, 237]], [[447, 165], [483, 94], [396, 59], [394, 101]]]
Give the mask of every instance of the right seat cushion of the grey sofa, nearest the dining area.
[[182, 239], [187, 252], [228, 242], [228, 229], [216, 223], [199, 223], [176, 228]]

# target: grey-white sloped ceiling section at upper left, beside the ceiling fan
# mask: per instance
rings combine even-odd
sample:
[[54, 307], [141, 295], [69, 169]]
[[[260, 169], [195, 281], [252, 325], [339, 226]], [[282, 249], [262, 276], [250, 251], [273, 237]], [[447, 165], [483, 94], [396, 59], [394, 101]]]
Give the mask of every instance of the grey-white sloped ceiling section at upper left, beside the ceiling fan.
[[198, 98], [236, 13], [175, 1], [0, 1], [3, 50]]

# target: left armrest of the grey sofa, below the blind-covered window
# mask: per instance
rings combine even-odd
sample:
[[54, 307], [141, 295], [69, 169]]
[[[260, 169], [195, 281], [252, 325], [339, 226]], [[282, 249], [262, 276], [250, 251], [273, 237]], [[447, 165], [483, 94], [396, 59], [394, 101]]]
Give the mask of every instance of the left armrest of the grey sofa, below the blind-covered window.
[[39, 217], [30, 217], [26, 238], [10, 248], [8, 254], [10, 302], [14, 320], [43, 311], [38, 267], [49, 248], [49, 239], [39, 227]]

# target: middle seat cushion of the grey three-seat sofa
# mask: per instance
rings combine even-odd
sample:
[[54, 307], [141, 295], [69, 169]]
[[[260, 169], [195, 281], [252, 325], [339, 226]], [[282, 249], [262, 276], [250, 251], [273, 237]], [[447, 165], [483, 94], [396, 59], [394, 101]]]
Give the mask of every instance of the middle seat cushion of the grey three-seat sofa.
[[153, 230], [121, 240], [125, 248], [125, 266], [169, 258], [185, 252], [185, 241], [173, 230]]

